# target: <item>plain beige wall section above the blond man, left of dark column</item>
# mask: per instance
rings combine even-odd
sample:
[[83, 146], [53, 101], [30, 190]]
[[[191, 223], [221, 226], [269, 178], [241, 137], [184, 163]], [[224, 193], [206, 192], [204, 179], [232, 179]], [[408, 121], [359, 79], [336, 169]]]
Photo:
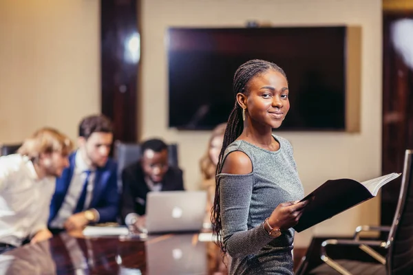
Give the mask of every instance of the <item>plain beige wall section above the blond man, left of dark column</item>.
[[0, 142], [100, 111], [97, 0], [0, 1]]

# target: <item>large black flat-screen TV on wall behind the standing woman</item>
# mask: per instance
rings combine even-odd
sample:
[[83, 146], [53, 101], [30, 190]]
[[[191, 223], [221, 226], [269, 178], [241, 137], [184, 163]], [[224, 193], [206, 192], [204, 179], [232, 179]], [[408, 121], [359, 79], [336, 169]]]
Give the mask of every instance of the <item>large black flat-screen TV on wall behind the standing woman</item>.
[[169, 28], [169, 127], [207, 130], [233, 109], [233, 76], [264, 59], [284, 69], [282, 131], [346, 130], [346, 27]]

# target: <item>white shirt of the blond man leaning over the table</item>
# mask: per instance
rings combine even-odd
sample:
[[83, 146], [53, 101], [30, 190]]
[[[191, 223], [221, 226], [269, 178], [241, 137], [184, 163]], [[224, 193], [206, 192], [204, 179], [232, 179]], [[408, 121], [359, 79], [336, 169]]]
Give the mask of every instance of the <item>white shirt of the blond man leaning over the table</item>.
[[54, 177], [39, 179], [28, 157], [0, 157], [0, 243], [20, 246], [47, 228]]

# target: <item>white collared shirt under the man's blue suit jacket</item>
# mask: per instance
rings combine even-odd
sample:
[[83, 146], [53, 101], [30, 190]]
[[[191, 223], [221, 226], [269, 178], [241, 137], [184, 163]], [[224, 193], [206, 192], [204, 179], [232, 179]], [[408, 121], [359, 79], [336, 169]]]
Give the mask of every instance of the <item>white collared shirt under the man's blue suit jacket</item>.
[[67, 189], [67, 193], [65, 199], [62, 203], [59, 212], [56, 214], [56, 218], [50, 222], [51, 228], [63, 228], [63, 224], [72, 216], [74, 210], [76, 209], [79, 197], [81, 197], [81, 193], [83, 190], [83, 184], [85, 184], [85, 180], [87, 177], [87, 171], [92, 171], [89, 175], [89, 179], [87, 181], [87, 192], [86, 192], [86, 199], [85, 199], [85, 206], [83, 210], [89, 208], [90, 201], [92, 200], [93, 188], [94, 188], [94, 178], [96, 175], [96, 171], [94, 168], [88, 166], [80, 151], [76, 152], [76, 156], [74, 159], [75, 167], [73, 171], [72, 180], [70, 181], [70, 186]]

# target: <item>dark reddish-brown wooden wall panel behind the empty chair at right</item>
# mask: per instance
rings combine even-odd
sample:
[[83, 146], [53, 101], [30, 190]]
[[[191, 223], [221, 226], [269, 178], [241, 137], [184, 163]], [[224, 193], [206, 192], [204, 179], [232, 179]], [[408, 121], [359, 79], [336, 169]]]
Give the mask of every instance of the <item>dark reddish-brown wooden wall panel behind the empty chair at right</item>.
[[[403, 18], [413, 19], [413, 11], [385, 11], [383, 14], [383, 174], [401, 173], [405, 150], [413, 148], [413, 68], [403, 61], [392, 41], [392, 25]], [[411, 50], [413, 54], [413, 48]], [[383, 187], [383, 225], [392, 223], [400, 184], [401, 178]]]

